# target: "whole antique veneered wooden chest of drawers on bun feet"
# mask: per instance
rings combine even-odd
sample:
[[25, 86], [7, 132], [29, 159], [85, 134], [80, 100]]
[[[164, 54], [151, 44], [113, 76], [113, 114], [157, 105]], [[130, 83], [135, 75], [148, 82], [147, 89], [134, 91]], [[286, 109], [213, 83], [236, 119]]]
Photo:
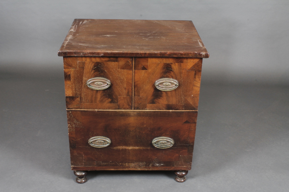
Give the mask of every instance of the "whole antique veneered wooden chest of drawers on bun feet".
[[71, 169], [191, 169], [202, 59], [191, 21], [75, 19], [64, 59]]

